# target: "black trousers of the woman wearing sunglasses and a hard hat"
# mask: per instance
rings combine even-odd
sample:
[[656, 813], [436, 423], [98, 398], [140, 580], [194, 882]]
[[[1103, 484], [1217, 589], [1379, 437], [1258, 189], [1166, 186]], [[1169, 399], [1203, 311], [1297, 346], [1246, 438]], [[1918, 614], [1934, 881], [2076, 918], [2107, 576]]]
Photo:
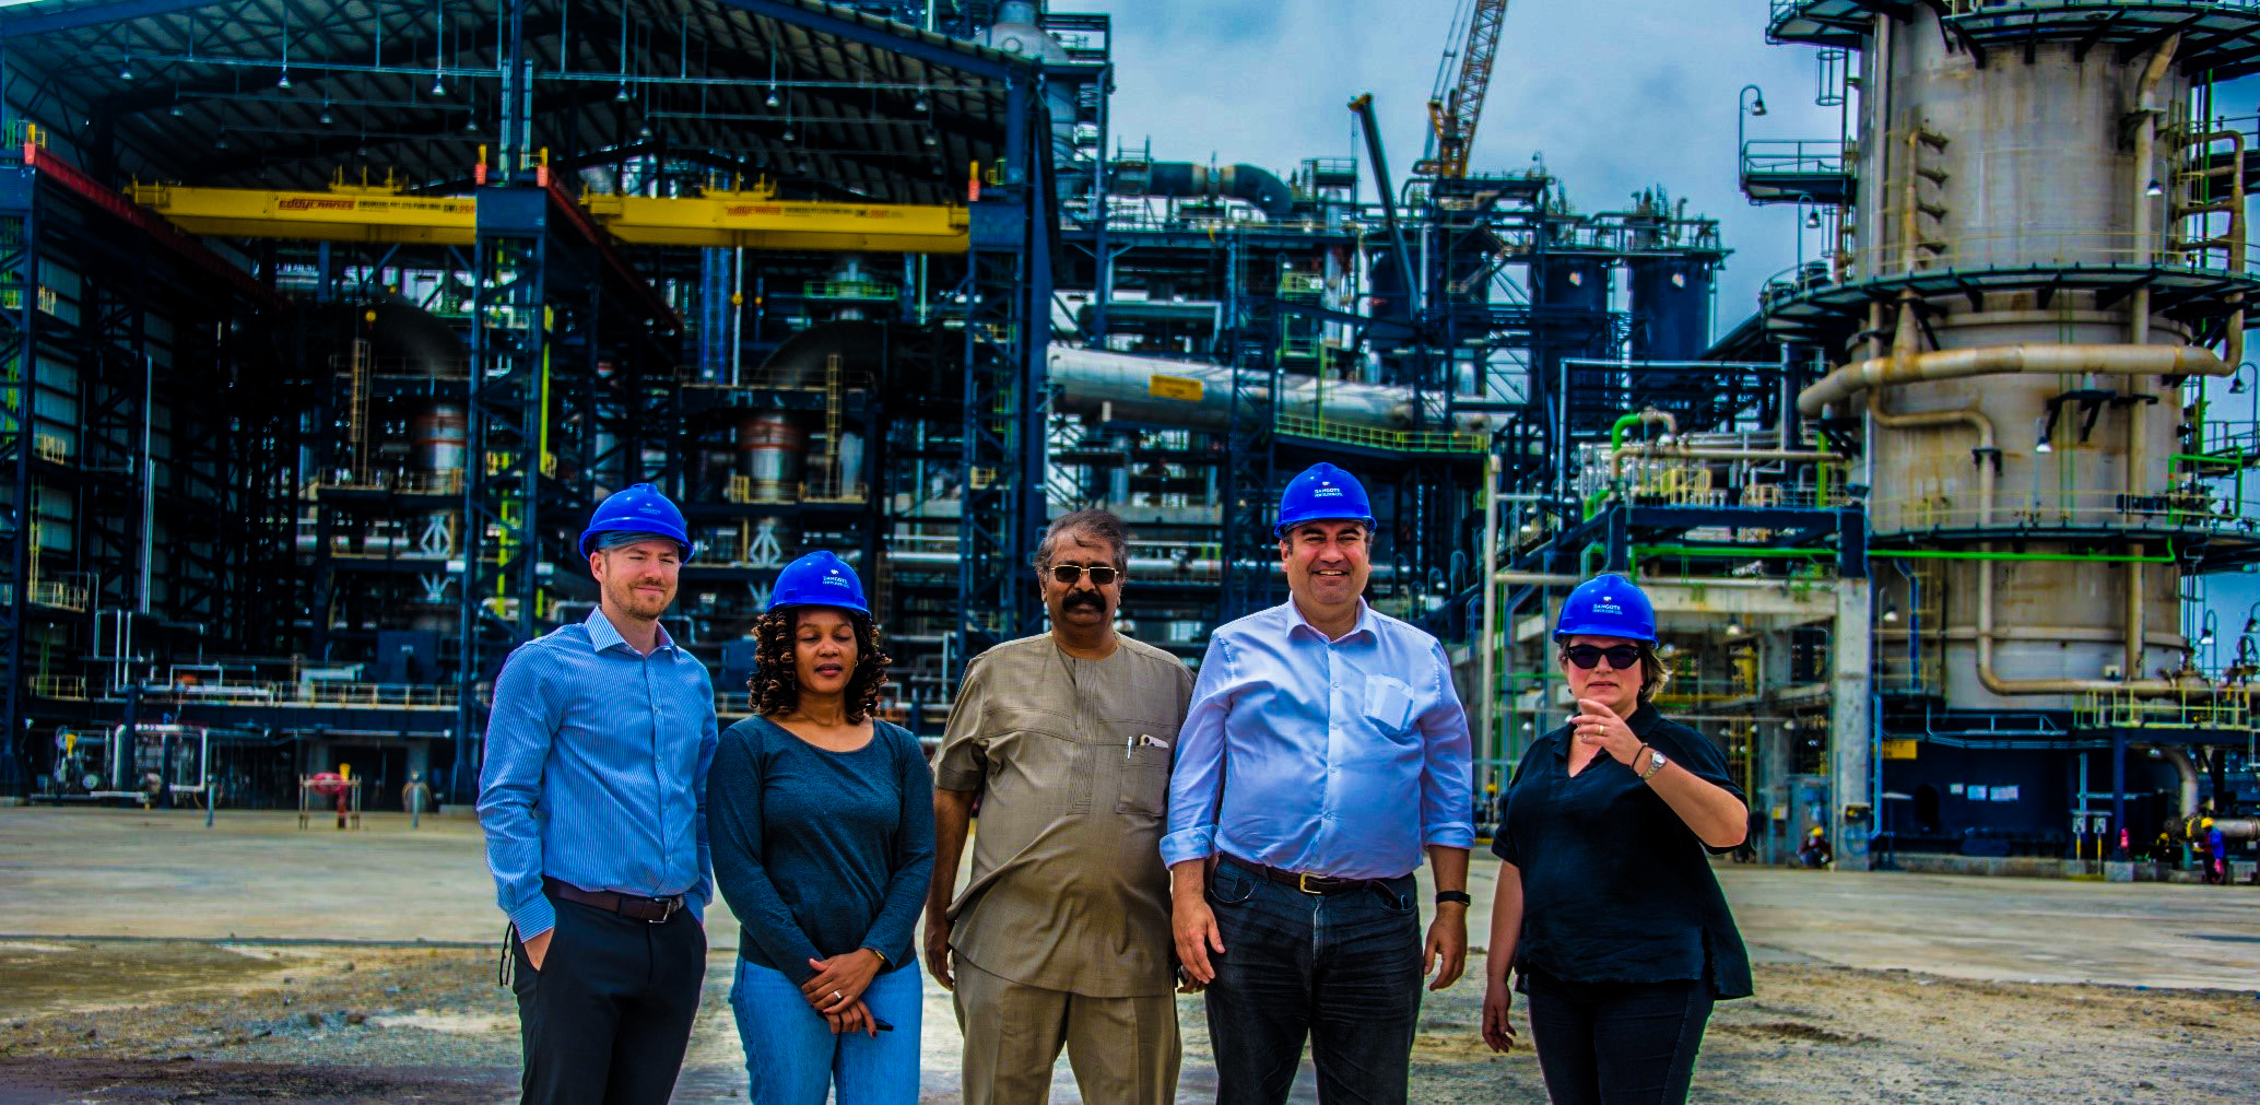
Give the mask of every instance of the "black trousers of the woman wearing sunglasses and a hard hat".
[[1555, 1105], [1684, 1103], [1711, 983], [1575, 983], [1523, 972], [1530, 1039]]

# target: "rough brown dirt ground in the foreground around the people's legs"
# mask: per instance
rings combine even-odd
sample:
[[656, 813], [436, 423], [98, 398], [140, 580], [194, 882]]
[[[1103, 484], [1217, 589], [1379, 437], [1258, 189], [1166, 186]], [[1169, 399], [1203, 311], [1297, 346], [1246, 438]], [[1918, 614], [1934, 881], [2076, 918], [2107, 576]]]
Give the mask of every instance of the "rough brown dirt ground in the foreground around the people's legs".
[[[515, 1096], [518, 1017], [493, 951], [38, 945], [0, 945], [0, 1105]], [[719, 978], [701, 1028], [734, 1044]], [[2235, 1046], [2255, 997], [1765, 965], [1758, 997], [1711, 1019], [1695, 1098], [2249, 1100]], [[1521, 1003], [1523, 1046], [1492, 1055], [1474, 1033], [1478, 1001], [1474, 978], [1428, 994], [1415, 1100], [1544, 1100]], [[1184, 1098], [1198, 1100], [1214, 1085], [1198, 999], [1180, 1021]], [[737, 1062], [734, 1049], [694, 1046], [676, 1100], [741, 1100]], [[954, 1091], [927, 1085], [927, 1100]]]

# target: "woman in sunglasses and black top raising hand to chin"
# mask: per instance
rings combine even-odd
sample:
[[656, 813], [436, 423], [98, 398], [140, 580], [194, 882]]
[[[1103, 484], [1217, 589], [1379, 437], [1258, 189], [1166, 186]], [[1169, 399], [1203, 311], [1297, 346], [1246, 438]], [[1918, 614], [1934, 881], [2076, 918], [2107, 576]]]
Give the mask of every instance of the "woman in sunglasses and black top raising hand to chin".
[[1623, 576], [1555, 626], [1577, 714], [1523, 752], [1492, 852], [1498, 895], [1483, 1039], [1514, 1044], [1507, 967], [1555, 1103], [1686, 1100], [1711, 1003], [1749, 997], [1749, 956], [1706, 852], [1749, 832], [1709, 737], [1650, 705], [1657, 617]]

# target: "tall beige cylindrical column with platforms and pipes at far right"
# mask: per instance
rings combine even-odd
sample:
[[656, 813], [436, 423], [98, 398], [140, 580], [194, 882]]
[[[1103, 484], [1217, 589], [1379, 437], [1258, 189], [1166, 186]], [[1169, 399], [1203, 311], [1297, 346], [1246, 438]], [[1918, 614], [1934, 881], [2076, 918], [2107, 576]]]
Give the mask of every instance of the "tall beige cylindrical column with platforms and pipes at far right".
[[[1774, 38], [1862, 52], [1862, 104], [1842, 282], [1767, 323], [1835, 353], [1799, 411], [1860, 434], [1871, 545], [1910, 567], [1874, 572], [1878, 691], [1966, 712], [2183, 691], [2170, 542], [2204, 502], [2170, 468], [2194, 452], [2183, 380], [2235, 366], [2260, 285], [2242, 165], [2188, 172], [2192, 75], [2217, 59], [2170, 20], [2226, 20], [2217, 47], [2260, 14], [1864, 7], [1774, 5]], [[1840, 811], [1867, 800], [1867, 737], [1835, 734]]]

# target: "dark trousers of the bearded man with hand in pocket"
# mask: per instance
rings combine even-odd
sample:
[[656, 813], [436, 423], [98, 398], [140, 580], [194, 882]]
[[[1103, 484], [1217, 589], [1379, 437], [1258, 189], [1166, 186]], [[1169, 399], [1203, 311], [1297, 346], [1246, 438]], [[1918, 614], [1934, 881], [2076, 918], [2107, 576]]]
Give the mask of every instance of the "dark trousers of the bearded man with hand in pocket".
[[542, 969], [515, 942], [527, 1103], [664, 1103], [692, 1042], [705, 983], [705, 926], [687, 911], [649, 924], [549, 902], [558, 926]]

